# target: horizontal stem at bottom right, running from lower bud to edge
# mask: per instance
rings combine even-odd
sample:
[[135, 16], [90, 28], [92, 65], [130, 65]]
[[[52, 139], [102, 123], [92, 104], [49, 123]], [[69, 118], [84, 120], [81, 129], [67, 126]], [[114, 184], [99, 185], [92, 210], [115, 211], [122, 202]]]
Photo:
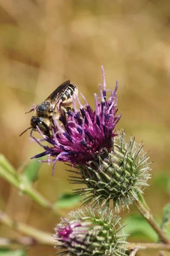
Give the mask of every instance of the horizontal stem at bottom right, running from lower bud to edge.
[[170, 251], [170, 244], [156, 244], [156, 243], [129, 243], [126, 245], [127, 250], [168, 250]]

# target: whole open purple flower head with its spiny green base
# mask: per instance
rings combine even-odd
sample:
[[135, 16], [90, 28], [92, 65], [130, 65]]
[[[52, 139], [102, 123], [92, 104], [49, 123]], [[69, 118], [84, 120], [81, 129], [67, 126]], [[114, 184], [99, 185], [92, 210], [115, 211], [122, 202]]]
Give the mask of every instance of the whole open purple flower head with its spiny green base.
[[57, 161], [71, 163], [78, 170], [69, 170], [74, 173], [71, 182], [86, 186], [75, 190], [75, 194], [88, 195], [84, 205], [108, 205], [113, 201], [114, 208], [119, 210], [121, 205], [128, 207], [143, 193], [150, 178], [150, 163], [147, 163], [149, 157], [141, 144], [137, 145], [131, 137], [126, 143], [124, 133], [115, 133], [115, 125], [121, 117], [116, 116], [117, 89], [118, 83], [114, 91], [107, 90], [110, 96], [106, 96], [103, 70], [103, 91], [100, 86], [100, 97], [95, 94], [95, 111], [86, 99], [82, 106], [78, 97], [80, 109], [76, 109], [73, 99], [74, 113], [61, 114], [61, 124], [54, 120], [56, 127], [52, 138], [39, 130], [51, 146], [42, 145], [45, 151], [35, 158], [48, 155], [46, 162], [54, 161], [53, 173]]

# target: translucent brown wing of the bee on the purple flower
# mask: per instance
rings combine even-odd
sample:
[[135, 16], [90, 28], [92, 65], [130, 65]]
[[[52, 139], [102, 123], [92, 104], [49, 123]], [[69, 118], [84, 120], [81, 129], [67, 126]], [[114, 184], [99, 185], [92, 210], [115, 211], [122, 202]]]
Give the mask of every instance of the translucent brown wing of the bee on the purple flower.
[[69, 84], [70, 80], [63, 82], [48, 96], [48, 98], [45, 99], [45, 101], [50, 102], [50, 109], [55, 109], [55, 106], [61, 99], [62, 94], [65, 92]]

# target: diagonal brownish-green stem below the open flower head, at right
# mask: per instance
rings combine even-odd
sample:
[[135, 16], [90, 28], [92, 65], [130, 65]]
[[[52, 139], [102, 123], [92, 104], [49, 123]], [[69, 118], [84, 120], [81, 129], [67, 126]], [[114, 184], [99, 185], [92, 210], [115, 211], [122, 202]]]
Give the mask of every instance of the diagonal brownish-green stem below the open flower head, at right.
[[143, 217], [146, 219], [146, 221], [150, 224], [150, 226], [153, 227], [153, 229], [156, 231], [156, 233], [158, 234], [161, 241], [164, 244], [170, 244], [169, 239], [167, 238], [167, 236], [161, 230], [161, 227], [159, 227], [159, 225], [153, 218], [153, 214], [150, 211], [149, 207], [147, 206], [146, 202], [145, 201], [143, 202], [143, 201], [144, 201], [144, 199], [142, 200], [142, 202], [140, 200], [139, 201], [135, 200], [133, 202], [133, 204], [138, 209], [138, 211], [141, 213], [141, 215], [143, 215]]

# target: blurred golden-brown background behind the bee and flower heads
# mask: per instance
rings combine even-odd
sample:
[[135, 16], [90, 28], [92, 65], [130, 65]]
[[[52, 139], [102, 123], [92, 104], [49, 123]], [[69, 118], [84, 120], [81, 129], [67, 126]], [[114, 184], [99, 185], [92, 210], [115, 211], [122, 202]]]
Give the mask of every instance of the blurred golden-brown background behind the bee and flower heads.
[[[0, 0], [0, 153], [17, 169], [42, 151], [29, 143], [29, 131], [19, 137], [30, 125], [32, 113], [25, 112], [67, 79], [94, 108], [102, 64], [107, 88], [114, 89], [119, 81], [122, 118], [117, 128], [125, 129], [127, 140], [133, 134], [150, 150], [153, 177], [145, 199], [160, 221], [162, 207], [170, 200], [170, 1]], [[35, 188], [49, 201], [78, 188], [69, 184], [65, 169], [64, 163], [57, 163], [52, 176], [52, 165], [42, 164]], [[3, 179], [0, 192], [3, 211], [50, 233], [68, 210], [56, 216], [20, 196]], [[130, 213], [135, 215], [133, 206]], [[152, 242], [146, 232], [133, 231], [129, 241]], [[0, 236], [18, 233], [1, 225]], [[29, 256], [55, 252], [40, 245], [27, 251]]]

